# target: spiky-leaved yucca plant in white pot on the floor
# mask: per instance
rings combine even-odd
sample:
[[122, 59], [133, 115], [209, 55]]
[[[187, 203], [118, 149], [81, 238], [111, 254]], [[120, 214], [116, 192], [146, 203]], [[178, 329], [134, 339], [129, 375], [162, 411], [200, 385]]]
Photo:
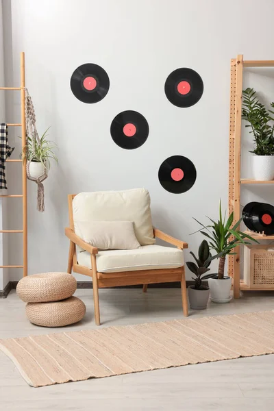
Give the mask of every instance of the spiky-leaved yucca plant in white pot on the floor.
[[[208, 219], [210, 219], [208, 217]], [[210, 287], [210, 299], [214, 303], [228, 303], [230, 301], [230, 290], [232, 286], [231, 277], [225, 275], [225, 260], [228, 254], [235, 254], [233, 249], [240, 244], [251, 244], [246, 239], [253, 242], [257, 242], [254, 238], [251, 238], [248, 234], [240, 232], [238, 227], [242, 219], [238, 220], [234, 225], [234, 213], [232, 212], [227, 221], [225, 216], [223, 217], [221, 211], [221, 200], [219, 204], [219, 220], [214, 221], [210, 219], [210, 225], [203, 225], [195, 219], [199, 225], [203, 228], [199, 229], [199, 232], [206, 236], [210, 240], [210, 249], [213, 249], [217, 253], [219, 258], [218, 274], [208, 279], [208, 285]], [[206, 230], [206, 231], [203, 231]]]

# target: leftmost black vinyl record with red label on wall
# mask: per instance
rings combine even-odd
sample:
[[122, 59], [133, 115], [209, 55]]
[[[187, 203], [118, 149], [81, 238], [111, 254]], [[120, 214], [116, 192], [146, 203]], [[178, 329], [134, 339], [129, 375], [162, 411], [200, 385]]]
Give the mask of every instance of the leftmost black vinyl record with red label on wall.
[[82, 64], [71, 76], [71, 90], [83, 103], [98, 103], [108, 94], [109, 88], [108, 73], [97, 64]]

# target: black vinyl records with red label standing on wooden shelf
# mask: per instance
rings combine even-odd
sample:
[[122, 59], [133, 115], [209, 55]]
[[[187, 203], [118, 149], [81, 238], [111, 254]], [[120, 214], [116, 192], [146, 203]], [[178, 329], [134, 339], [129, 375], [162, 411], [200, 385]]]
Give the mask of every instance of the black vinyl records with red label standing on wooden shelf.
[[242, 219], [249, 229], [271, 236], [274, 234], [274, 207], [267, 203], [252, 202], [242, 210]]

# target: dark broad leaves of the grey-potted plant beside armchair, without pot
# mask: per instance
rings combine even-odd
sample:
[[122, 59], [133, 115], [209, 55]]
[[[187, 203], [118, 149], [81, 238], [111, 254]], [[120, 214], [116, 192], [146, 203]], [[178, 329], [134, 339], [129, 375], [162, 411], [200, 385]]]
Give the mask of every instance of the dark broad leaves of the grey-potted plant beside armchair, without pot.
[[[215, 258], [218, 258], [220, 255], [213, 256], [210, 253], [210, 247], [208, 245], [207, 240], [203, 240], [201, 242], [201, 245], [198, 250], [198, 258], [195, 256], [192, 251], [190, 251], [191, 256], [195, 259], [196, 263], [192, 261], [187, 261], [186, 265], [188, 266], [188, 269], [192, 273], [196, 275], [196, 277], [192, 277], [194, 279], [195, 283], [195, 290], [208, 290], [208, 287], [203, 286], [202, 281], [204, 279], [208, 279], [211, 277], [215, 277], [216, 274], [207, 274], [205, 275], [210, 269], [208, 268]], [[223, 255], [221, 253], [221, 255]]]

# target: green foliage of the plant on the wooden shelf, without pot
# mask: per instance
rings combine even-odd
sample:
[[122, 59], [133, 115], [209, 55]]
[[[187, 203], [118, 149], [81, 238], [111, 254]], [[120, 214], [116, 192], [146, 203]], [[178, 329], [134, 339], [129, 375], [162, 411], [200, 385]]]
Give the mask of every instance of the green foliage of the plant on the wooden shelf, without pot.
[[[271, 103], [274, 108], [274, 103]], [[260, 103], [253, 88], [242, 90], [242, 119], [247, 121], [245, 127], [251, 127], [249, 133], [253, 134], [256, 148], [250, 153], [256, 155], [274, 155], [274, 121], [271, 110], [266, 110]]]

